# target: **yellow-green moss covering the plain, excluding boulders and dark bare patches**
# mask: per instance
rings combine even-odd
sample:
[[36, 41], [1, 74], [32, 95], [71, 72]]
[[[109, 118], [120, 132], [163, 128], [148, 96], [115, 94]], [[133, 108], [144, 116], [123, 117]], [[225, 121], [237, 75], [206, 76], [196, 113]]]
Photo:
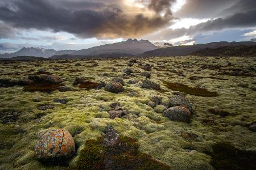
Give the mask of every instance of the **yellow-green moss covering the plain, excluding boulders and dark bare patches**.
[[[246, 126], [256, 120], [255, 58], [139, 58], [131, 66], [134, 73], [126, 75], [123, 70], [129, 67], [128, 63], [129, 58], [1, 62], [0, 79], [25, 79], [44, 69], [59, 75], [73, 91], [0, 88], [0, 169], [76, 168], [86, 141], [100, 138], [107, 126], [136, 140], [140, 153], [151, 155], [171, 169], [233, 168], [234, 163], [229, 160], [234, 148], [241, 153], [236, 155], [237, 169], [246, 167], [242, 164], [246, 156], [255, 156], [256, 133]], [[146, 63], [152, 65], [148, 71], [150, 80], [160, 84], [160, 91], [141, 88], [145, 79], [140, 75], [144, 71], [141, 65]], [[87, 84], [85, 88], [73, 87], [76, 77], [108, 83], [115, 76], [121, 76], [125, 82], [125, 91], [119, 94], [104, 88], [96, 90]], [[128, 83], [130, 80], [134, 83]], [[193, 90], [199, 91], [195, 94]], [[205, 92], [210, 95], [205, 96]], [[167, 100], [177, 94], [191, 101], [194, 114], [190, 124], [171, 121], [147, 105], [152, 96]], [[61, 104], [55, 99], [68, 102]], [[129, 113], [127, 117], [109, 117], [109, 105], [114, 102]], [[38, 109], [48, 104], [54, 108]], [[35, 144], [49, 128], [67, 129], [75, 140], [76, 155], [66, 163], [45, 164], [35, 157]], [[218, 152], [221, 147], [227, 154]], [[220, 160], [220, 156], [225, 159]]]

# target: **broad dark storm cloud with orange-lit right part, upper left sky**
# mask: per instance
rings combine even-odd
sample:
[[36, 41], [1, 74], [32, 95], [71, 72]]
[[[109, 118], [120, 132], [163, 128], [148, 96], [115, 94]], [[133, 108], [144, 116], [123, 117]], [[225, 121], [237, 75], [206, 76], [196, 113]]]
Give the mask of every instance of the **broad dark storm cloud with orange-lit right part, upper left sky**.
[[[71, 2], [73, 6], [68, 8], [67, 3]], [[114, 38], [141, 36], [162, 28], [173, 19], [167, 7], [172, 0], [148, 1], [146, 8], [155, 13], [152, 16], [126, 14], [122, 1], [109, 1], [113, 7], [104, 2], [108, 1], [66, 0], [62, 4], [59, 0], [10, 0], [0, 3], [0, 20], [14, 28], [52, 29], [86, 38]], [[82, 3], [87, 5], [81, 8]]]

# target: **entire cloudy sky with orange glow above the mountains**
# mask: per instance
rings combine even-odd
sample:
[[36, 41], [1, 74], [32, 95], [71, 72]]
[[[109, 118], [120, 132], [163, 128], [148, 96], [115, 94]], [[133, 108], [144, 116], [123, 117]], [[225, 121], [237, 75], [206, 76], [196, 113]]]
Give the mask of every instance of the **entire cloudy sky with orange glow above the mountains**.
[[129, 38], [192, 45], [256, 38], [255, 0], [1, 0], [0, 53]]

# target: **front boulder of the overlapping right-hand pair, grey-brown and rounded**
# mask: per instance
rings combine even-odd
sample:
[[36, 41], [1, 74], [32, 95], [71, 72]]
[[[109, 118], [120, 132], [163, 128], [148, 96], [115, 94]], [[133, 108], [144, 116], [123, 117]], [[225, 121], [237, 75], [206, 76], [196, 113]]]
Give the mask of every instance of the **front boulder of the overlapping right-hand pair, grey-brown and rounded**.
[[191, 120], [191, 113], [187, 108], [176, 106], [168, 108], [163, 112], [163, 116], [170, 118], [172, 121], [181, 121], [189, 123]]

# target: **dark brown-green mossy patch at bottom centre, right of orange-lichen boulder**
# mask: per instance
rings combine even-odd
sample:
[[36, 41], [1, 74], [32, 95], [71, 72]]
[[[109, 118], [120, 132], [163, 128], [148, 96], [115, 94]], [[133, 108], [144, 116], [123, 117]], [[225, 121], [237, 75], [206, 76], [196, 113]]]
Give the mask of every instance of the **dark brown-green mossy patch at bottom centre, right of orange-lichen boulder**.
[[102, 138], [89, 139], [81, 151], [76, 169], [170, 169], [138, 149], [134, 139], [121, 135], [110, 146], [104, 146]]

